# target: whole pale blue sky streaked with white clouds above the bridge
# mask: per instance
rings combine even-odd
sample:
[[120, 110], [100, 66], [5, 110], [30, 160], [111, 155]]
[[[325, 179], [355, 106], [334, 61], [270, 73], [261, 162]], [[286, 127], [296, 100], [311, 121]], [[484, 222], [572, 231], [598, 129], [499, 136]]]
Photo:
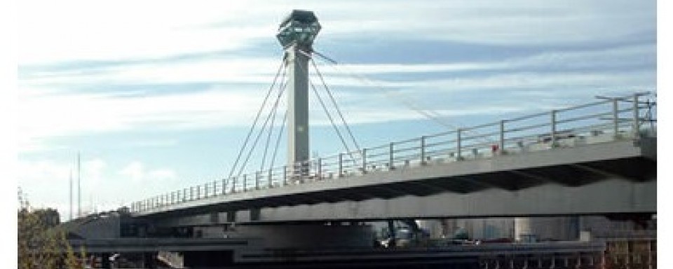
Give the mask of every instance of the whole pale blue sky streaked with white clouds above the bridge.
[[[365, 147], [447, 130], [419, 109], [469, 126], [657, 86], [651, 0], [17, 5], [18, 185], [63, 219], [78, 152], [84, 211], [226, 177], [293, 9], [317, 15], [313, 48], [339, 64], [315, 62]], [[313, 156], [344, 151], [315, 97], [310, 110]]]

